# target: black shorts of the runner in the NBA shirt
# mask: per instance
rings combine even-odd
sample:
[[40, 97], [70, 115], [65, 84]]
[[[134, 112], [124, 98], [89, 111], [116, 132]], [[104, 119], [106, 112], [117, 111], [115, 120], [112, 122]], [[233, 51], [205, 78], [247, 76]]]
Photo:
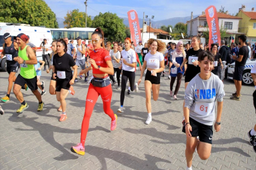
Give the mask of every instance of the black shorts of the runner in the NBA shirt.
[[[192, 127], [192, 132], [190, 132], [192, 137], [199, 136], [200, 142], [212, 144], [212, 136], [213, 136], [212, 126], [199, 123], [196, 120], [193, 120], [193, 118], [190, 118], [190, 126]], [[185, 124], [182, 128], [182, 132], [186, 133]]]

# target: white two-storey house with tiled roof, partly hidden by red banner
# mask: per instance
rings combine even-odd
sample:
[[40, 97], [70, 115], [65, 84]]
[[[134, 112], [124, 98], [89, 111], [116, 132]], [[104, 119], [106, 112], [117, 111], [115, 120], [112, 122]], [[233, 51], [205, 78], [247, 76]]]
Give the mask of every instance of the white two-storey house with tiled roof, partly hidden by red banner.
[[[193, 37], [194, 35], [203, 35], [205, 31], [208, 31], [205, 12], [202, 12], [202, 14], [197, 18], [193, 18], [193, 12], [191, 16], [192, 19], [186, 22], [186, 34], [188, 37]], [[227, 41], [228, 44], [235, 42], [236, 35], [245, 34], [238, 31], [239, 21], [242, 20], [242, 18], [229, 15], [228, 11], [227, 13], [217, 13], [217, 17], [219, 19], [219, 28], [226, 29], [226, 37], [221, 37], [221, 39]]]

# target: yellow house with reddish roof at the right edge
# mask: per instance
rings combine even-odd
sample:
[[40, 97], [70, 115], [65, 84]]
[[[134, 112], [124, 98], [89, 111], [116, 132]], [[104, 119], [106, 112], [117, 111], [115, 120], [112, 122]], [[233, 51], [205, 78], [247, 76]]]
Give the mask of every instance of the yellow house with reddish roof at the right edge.
[[247, 42], [250, 42], [251, 45], [256, 43], [256, 12], [254, 8], [252, 8], [252, 11], [245, 11], [245, 6], [242, 6], [238, 17], [242, 18], [239, 22], [238, 30], [246, 33]]

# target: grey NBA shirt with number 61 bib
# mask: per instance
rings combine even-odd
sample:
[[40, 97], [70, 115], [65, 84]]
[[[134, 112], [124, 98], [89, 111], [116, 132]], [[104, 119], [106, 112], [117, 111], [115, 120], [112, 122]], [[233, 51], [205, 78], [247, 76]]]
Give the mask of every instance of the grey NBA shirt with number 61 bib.
[[185, 91], [185, 108], [190, 109], [190, 118], [204, 125], [213, 125], [216, 100], [221, 102], [225, 95], [221, 79], [211, 74], [208, 80], [197, 76], [188, 83]]

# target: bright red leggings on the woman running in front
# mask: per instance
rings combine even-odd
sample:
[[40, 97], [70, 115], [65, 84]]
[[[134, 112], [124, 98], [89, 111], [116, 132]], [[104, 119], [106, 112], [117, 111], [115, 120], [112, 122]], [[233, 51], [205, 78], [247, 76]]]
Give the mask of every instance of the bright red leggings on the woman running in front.
[[85, 101], [85, 115], [83, 116], [82, 128], [81, 128], [81, 143], [85, 145], [85, 138], [89, 128], [90, 116], [92, 115], [92, 111], [94, 110], [94, 105], [101, 95], [103, 101], [103, 110], [104, 112], [111, 117], [111, 120], [115, 120], [114, 112], [111, 110], [111, 98], [112, 98], [112, 88], [111, 84], [104, 88], [94, 87], [90, 83], [88, 88], [88, 93]]

